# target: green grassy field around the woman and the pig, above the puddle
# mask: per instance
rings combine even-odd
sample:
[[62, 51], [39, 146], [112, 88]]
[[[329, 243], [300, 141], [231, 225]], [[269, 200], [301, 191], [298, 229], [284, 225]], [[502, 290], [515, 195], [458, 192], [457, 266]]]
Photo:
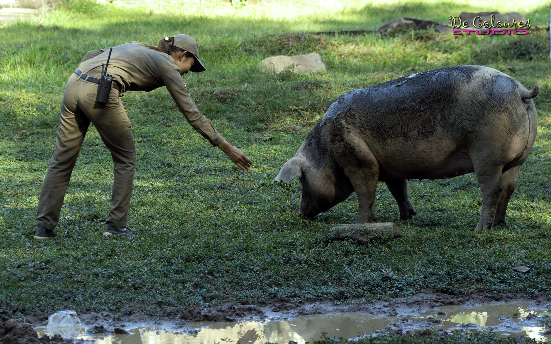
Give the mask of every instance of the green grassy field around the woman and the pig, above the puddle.
[[[164, 2], [127, 8], [69, 2], [37, 20], [0, 27], [0, 313], [76, 309], [157, 314], [273, 299], [369, 302], [434, 290], [551, 296], [551, 68], [547, 31], [525, 36], [302, 35], [374, 30], [399, 17], [448, 23], [460, 12], [519, 12], [548, 26], [551, 3], [276, 1]], [[127, 92], [138, 165], [128, 227], [101, 236], [112, 161], [91, 127], [73, 171], [56, 238], [33, 239], [37, 200], [53, 152], [64, 84], [83, 54], [186, 33], [207, 72], [185, 80], [199, 109], [253, 161], [242, 172], [194, 132], [162, 88]], [[276, 54], [318, 52], [327, 73], [261, 72]], [[535, 99], [538, 136], [521, 168], [507, 225], [478, 233], [473, 174], [412, 181], [417, 215], [399, 220], [384, 184], [375, 214], [401, 238], [359, 246], [325, 242], [332, 223], [354, 223], [355, 195], [315, 219], [297, 214], [301, 188], [272, 184], [327, 107], [346, 91], [424, 70], [488, 65]], [[270, 138], [264, 140], [263, 138]], [[525, 274], [511, 270], [525, 265]]]

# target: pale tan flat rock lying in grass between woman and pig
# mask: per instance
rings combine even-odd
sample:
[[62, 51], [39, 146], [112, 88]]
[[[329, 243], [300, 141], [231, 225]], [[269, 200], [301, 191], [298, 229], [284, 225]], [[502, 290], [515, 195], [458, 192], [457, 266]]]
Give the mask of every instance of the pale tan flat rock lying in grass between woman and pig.
[[290, 69], [295, 73], [325, 72], [325, 64], [318, 53], [294, 56], [272, 56], [263, 59], [258, 67], [262, 70], [275, 70], [277, 73]]

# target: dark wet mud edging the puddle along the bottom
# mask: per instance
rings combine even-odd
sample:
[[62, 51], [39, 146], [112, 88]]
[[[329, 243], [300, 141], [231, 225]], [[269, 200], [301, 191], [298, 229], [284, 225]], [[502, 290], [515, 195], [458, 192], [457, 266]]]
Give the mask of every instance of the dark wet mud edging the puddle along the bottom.
[[[504, 302], [527, 302], [534, 308], [545, 309], [551, 306], [551, 298], [539, 296], [536, 298], [525, 298], [525, 293], [496, 294], [484, 292], [466, 296], [454, 296], [442, 293], [419, 293], [414, 296], [395, 298], [388, 301], [377, 301], [369, 304], [334, 304], [331, 302], [288, 302], [284, 299], [277, 299], [270, 303], [260, 304], [224, 304], [217, 307], [197, 307], [186, 309], [180, 314], [163, 314], [152, 316], [143, 313], [86, 313], [78, 314], [80, 321], [89, 334], [96, 333], [125, 333], [126, 330], [137, 327], [158, 326], [166, 331], [182, 331], [196, 321], [240, 321], [240, 320], [262, 320], [278, 321], [298, 318], [306, 314], [334, 314], [341, 312], [360, 312], [373, 316], [405, 316], [418, 315], [430, 312], [444, 305], [461, 305], [463, 307], [474, 307]], [[48, 316], [44, 312], [33, 312], [27, 314], [25, 319], [10, 320], [9, 316], [0, 314], [0, 342], [15, 343], [72, 343], [64, 341], [61, 336], [53, 338], [48, 336], [38, 337], [33, 328], [46, 326]], [[547, 319], [549, 318], [549, 319]], [[504, 328], [509, 325], [505, 319]], [[525, 321], [541, 321], [542, 318], [530, 316]], [[551, 324], [551, 316], [544, 319]], [[434, 324], [431, 323], [434, 322]], [[399, 334], [406, 334], [408, 331], [434, 326], [438, 320], [425, 318], [419, 320], [402, 319], [395, 324], [387, 326], [385, 331], [395, 331]], [[514, 324], [511, 323], [510, 324]], [[481, 327], [481, 326], [478, 326]], [[464, 330], [473, 330], [477, 325], [464, 325]]]

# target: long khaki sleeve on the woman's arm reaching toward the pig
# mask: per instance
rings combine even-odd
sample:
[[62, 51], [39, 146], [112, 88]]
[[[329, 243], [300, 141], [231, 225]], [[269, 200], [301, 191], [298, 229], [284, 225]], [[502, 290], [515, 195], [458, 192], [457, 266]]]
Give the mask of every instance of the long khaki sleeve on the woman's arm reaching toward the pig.
[[180, 112], [183, 113], [193, 129], [209, 140], [213, 146], [223, 143], [224, 138], [214, 129], [212, 122], [203, 116], [195, 105], [195, 101], [191, 99], [190, 92], [183, 83], [179, 70], [177, 68], [166, 70], [161, 77], [172, 99], [174, 99]]

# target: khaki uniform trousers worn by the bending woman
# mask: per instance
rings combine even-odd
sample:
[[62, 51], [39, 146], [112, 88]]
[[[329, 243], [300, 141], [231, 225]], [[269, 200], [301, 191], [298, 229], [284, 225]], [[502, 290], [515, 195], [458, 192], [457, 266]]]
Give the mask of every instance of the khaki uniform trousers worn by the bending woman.
[[74, 73], [67, 81], [56, 149], [42, 184], [35, 226], [44, 226], [47, 230], [57, 226], [67, 185], [90, 122], [111, 152], [114, 163], [115, 180], [106, 223], [118, 228], [126, 226], [136, 170], [136, 148], [131, 123], [122, 107], [122, 94], [117, 89], [111, 89], [109, 102], [105, 105], [95, 101], [97, 93], [98, 84], [80, 79]]

